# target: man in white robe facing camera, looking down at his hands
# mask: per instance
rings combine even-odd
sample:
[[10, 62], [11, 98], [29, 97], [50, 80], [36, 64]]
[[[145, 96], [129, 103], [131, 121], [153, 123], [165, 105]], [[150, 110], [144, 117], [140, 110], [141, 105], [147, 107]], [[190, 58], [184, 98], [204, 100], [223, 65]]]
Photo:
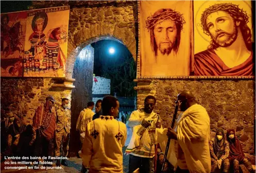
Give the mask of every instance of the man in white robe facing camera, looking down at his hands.
[[[132, 137], [126, 149], [129, 153], [129, 173], [136, 169], [140, 172], [153, 172], [155, 144], [157, 144], [156, 128], [160, 128], [160, 116], [153, 112], [156, 98], [148, 95], [144, 100], [144, 108], [133, 111], [128, 120], [132, 129]], [[159, 120], [159, 121], [158, 121]], [[137, 132], [145, 129], [139, 136]]]

